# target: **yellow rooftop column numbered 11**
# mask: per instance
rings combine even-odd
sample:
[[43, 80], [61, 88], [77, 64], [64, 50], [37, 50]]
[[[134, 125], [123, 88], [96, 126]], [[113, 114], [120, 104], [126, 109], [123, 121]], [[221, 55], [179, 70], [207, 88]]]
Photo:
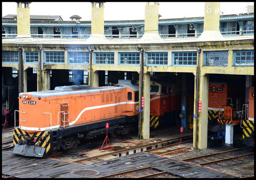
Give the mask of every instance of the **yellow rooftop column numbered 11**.
[[26, 3], [17, 2], [17, 34], [18, 34], [17, 37], [31, 37], [30, 36], [30, 14], [29, 14], [28, 2]]

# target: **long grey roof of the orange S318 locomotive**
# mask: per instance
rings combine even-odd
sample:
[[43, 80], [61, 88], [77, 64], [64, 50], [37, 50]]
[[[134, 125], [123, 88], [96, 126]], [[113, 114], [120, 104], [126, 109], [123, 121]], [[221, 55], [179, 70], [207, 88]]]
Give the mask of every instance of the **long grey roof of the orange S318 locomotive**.
[[108, 90], [122, 90], [125, 89], [126, 86], [123, 84], [118, 84], [117, 86], [104, 86], [104, 87], [93, 87], [84, 90], [45, 90], [45, 91], [35, 91], [35, 92], [27, 92], [27, 93], [19, 93], [19, 96], [23, 94], [31, 94], [33, 97], [49, 97], [49, 96], [63, 96], [70, 94], [82, 94], [82, 93], [97, 93]]

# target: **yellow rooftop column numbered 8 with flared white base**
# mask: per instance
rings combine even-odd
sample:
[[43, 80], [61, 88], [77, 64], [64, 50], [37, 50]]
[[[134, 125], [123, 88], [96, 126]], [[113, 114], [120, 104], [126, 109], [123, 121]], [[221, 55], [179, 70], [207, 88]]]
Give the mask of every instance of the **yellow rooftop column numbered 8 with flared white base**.
[[204, 32], [198, 41], [222, 39], [220, 26], [220, 2], [206, 2], [204, 4]]

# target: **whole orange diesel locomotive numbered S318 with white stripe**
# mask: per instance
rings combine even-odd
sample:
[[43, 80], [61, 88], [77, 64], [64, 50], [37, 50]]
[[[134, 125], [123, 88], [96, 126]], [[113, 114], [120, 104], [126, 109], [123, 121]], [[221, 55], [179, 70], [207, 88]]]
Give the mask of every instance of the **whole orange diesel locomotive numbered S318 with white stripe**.
[[19, 94], [19, 127], [13, 152], [43, 157], [74, 148], [81, 138], [105, 132], [127, 134], [138, 119], [138, 84], [106, 87], [73, 85]]

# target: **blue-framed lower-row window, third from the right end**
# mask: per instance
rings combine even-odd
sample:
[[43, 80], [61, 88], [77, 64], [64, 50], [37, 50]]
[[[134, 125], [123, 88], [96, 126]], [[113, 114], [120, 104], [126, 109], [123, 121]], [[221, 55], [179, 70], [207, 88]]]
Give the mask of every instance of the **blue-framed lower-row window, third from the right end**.
[[197, 64], [197, 52], [172, 52], [173, 65], [194, 66]]

